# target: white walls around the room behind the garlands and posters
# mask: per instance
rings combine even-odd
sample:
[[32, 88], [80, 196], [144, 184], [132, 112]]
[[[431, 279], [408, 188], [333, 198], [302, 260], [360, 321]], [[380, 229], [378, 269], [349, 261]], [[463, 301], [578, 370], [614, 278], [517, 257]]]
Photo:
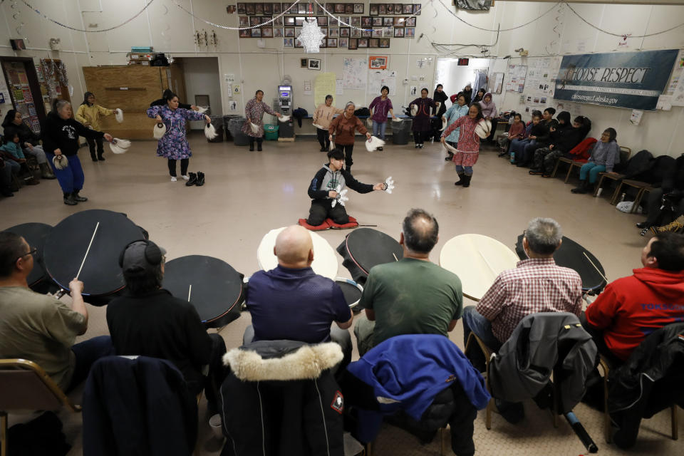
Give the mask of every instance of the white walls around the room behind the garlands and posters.
[[[266, 100], [271, 100], [276, 85], [284, 74], [293, 78], [295, 90], [295, 105], [313, 110], [313, 97], [302, 94], [302, 81], [313, 81], [317, 71], [299, 68], [299, 58], [304, 55], [301, 48], [282, 48], [281, 38], [266, 38], [266, 48], [257, 48], [256, 39], [238, 39], [237, 31], [227, 31], [217, 28], [199, 19], [193, 19], [182, 11], [175, 3], [179, 3], [187, 10], [192, 10], [195, 16], [217, 24], [237, 26], [237, 14], [226, 13], [226, 2], [214, 0], [157, 0], [147, 11], [121, 28], [105, 33], [82, 33], [69, 31], [38, 16], [19, 2], [19, 8], [11, 9], [11, 2], [0, 4], [0, 55], [33, 56], [35, 58], [54, 56], [65, 61], [75, 88], [74, 98], [81, 97], [86, 87], [83, 83], [82, 66], [125, 64], [125, 54], [130, 46], [154, 46], [156, 51], [172, 53], [176, 57], [204, 56], [217, 57], [219, 73], [221, 75], [222, 106], [227, 108], [229, 91], [223, 81], [223, 75], [234, 73], [237, 81], [242, 83], [242, 93], [234, 99], [239, 102], [242, 111], [244, 103], [261, 88], [266, 92]], [[451, 1], [442, 0], [450, 5]], [[63, 24], [76, 28], [91, 30], [107, 28], [121, 24], [138, 13], [147, 0], [32, 0], [42, 13]], [[234, 2], [230, 2], [234, 3]], [[368, 11], [369, 2], [366, 4]], [[418, 2], [416, 2], [418, 3]], [[102, 9], [100, 10], [100, 4]], [[459, 11], [457, 16], [474, 26], [485, 29], [512, 28], [524, 24], [545, 11], [549, 11], [556, 2], [524, 2], [500, 1], [487, 13]], [[423, 2], [423, 14], [418, 16], [416, 38], [392, 38], [389, 49], [360, 49], [348, 51], [346, 49], [321, 49], [316, 55], [321, 58], [322, 71], [332, 71], [341, 76], [343, 58], [368, 55], [388, 55], [390, 70], [398, 72], [398, 80], [415, 78], [420, 85], [435, 87], [435, 62], [438, 57], [449, 56], [437, 52], [430, 44], [454, 43], [459, 51], [452, 56], [472, 58], [482, 57], [480, 46], [469, 44], [493, 44], [489, 54], [485, 57], [499, 58], [494, 61], [490, 73], [506, 71], [508, 63], [524, 63], [525, 58], [513, 57], [510, 61], [502, 60], [507, 55], [517, 55], [515, 48], [529, 49], [529, 56], [562, 53], [591, 53], [610, 52], [618, 48], [618, 38], [596, 31], [577, 18], [567, 6], [554, 9], [539, 21], [517, 28], [512, 31], [497, 33], [472, 28], [455, 19], [439, 1], [430, 4]], [[632, 33], [643, 35], [665, 30], [684, 22], [684, 6], [655, 5], [622, 5], [622, 4], [573, 4], [573, 8], [587, 21], [599, 28], [614, 33]], [[18, 19], [14, 19], [19, 10]], [[81, 13], [83, 11], [83, 13]], [[92, 11], [92, 12], [86, 12]], [[450, 11], [455, 11], [450, 6]], [[24, 26], [19, 28], [19, 25]], [[97, 24], [90, 27], [90, 24]], [[19, 28], [21, 33], [16, 31]], [[196, 46], [193, 40], [195, 30], [216, 31], [217, 46]], [[421, 33], [423, 38], [418, 38]], [[9, 38], [21, 35], [29, 38], [27, 51], [14, 53], [9, 48]], [[63, 51], [48, 51], [49, 38], [61, 38]], [[584, 46], [584, 51], [578, 52], [578, 46]], [[668, 33], [648, 38], [628, 39], [629, 51], [640, 49], [684, 48], [684, 27], [675, 28]], [[623, 49], [621, 50], [623, 51]], [[418, 58], [432, 58], [430, 64], [420, 69], [416, 65]], [[420, 81], [420, 78], [423, 78]], [[407, 103], [411, 98], [408, 94], [410, 84], [398, 84], [398, 94], [393, 96], [395, 105]], [[361, 90], [345, 90], [343, 95], [337, 95], [337, 103], [343, 100], [372, 100], [374, 94]], [[494, 100], [502, 110], [517, 109], [519, 96], [513, 93], [495, 95]], [[633, 150], [648, 148], [656, 155], [667, 153], [678, 155], [681, 146], [675, 140], [678, 130], [684, 126], [683, 108], [673, 108], [669, 112], [645, 113], [641, 125], [634, 126], [628, 122], [630, 110], [618, 108], [603, 108], [584, 105], [584, 113], [594, 121], [594, 131], [613, 126], [618, 130], [618, 142], [632, 147]], [[266, 121], [271, 121], [266, 119]], [[313, 133], [308, 126], [304, 133]], [[299, 132], [298, 132], [299, 133]]]

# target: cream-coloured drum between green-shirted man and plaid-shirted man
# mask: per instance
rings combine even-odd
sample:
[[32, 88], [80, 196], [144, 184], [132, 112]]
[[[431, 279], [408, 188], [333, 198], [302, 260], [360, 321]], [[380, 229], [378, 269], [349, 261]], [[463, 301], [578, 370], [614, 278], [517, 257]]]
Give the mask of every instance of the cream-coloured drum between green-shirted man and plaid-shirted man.
[[440, 266], [461, 279], [463, 294], [480, 301], [506, 269], [513, 269], [518, 257], [497, 239], [482, 234], [461, 234], [442, 247]]

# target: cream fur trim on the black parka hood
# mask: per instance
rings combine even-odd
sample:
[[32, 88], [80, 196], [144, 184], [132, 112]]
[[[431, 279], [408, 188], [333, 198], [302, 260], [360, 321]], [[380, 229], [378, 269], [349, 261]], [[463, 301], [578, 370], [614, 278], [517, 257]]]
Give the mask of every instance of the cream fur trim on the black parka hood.
[[223, 363], [242, 381], [304, 380], [320, 377], [342, 358], [342, 348], [334, 342], [257, 341], [233, 348]]

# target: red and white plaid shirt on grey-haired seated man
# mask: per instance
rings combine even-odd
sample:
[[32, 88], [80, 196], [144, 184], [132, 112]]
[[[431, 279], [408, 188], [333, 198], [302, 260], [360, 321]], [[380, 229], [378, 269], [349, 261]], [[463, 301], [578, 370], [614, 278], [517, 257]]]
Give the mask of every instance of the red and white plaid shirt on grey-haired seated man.
[[582, 310], [582, 281], [576, 271], [556, 266], [553, 258], [518, 261], [503, 271], [477, 303], [477, 312], [492, 322], [492, 333], [504, 343], [519, 321], [538, 312]]

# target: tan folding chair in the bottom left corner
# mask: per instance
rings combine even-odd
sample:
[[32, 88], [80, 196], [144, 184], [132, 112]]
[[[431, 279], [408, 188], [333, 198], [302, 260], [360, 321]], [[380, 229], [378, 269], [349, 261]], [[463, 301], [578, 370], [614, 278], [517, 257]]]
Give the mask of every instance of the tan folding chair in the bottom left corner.
[[81, 412], [41, 366], [25, 359], [0, 359], [0, 455], [7, 455], [7, 414], [12, 410]]

